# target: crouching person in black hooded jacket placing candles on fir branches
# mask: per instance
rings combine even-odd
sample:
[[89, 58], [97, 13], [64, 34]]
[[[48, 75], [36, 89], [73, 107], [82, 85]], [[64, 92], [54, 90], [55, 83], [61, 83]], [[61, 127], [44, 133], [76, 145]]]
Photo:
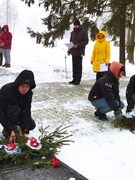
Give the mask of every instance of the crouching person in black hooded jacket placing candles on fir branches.
[[4, 128], [3, 135], [8, 135], [10, 143], [16, 140], [14, 125], [21, 128], [26, 139], [36, 126], [31, 118], [32, 89], [35, 87], [33, 72], [23, 70], [14, 82], [0, 89], [0, 123]]

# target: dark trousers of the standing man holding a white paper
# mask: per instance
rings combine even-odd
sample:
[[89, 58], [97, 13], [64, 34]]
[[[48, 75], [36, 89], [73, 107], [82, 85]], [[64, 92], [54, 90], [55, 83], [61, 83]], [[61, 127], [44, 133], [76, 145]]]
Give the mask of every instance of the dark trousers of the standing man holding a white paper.
[[72, 56], [73, 81], [80, 83], [82, 78], [82, 56]]

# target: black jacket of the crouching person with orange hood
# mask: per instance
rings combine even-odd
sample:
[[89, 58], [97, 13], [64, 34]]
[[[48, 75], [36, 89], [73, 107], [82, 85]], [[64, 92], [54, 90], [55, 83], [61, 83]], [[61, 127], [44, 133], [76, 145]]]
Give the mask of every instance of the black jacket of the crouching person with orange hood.
[[96, 81], [90, 90], [89, 101], [100, 98], [105, 98], [112, 110], [118, 110], [117, 101], [120, 102], [119, 81], [111, 71], [106, 72], [102, 78]]

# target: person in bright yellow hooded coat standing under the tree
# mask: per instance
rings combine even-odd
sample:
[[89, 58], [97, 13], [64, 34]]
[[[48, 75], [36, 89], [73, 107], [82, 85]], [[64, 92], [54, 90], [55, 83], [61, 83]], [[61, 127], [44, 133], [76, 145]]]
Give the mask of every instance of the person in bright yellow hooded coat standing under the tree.
[[96, 80], [98, 80], [104, 74], [104, 71], [100, 70], [100, 65], [105, 64], [108, 66], [110, 64], [110, 43], [106, 40], [105, 31], [101, 30], [96, 35], [96, 42], [90, 61], [93, 65], [93, 71], [97, 73]]

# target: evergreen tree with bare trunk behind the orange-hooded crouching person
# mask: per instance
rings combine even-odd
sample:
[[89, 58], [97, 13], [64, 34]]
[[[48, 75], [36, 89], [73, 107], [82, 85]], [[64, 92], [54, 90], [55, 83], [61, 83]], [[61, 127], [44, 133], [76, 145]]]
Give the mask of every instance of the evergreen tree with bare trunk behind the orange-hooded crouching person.
[[111, 0], [108, 6], [111, 11], [111, 18], [104, 25], [107, 32], [113, 36], [113, 40], [117, 37], [120, 39], [120, 62], [125, 64], [125, 29], [131, 28], [132, 13], [134, 0]]

